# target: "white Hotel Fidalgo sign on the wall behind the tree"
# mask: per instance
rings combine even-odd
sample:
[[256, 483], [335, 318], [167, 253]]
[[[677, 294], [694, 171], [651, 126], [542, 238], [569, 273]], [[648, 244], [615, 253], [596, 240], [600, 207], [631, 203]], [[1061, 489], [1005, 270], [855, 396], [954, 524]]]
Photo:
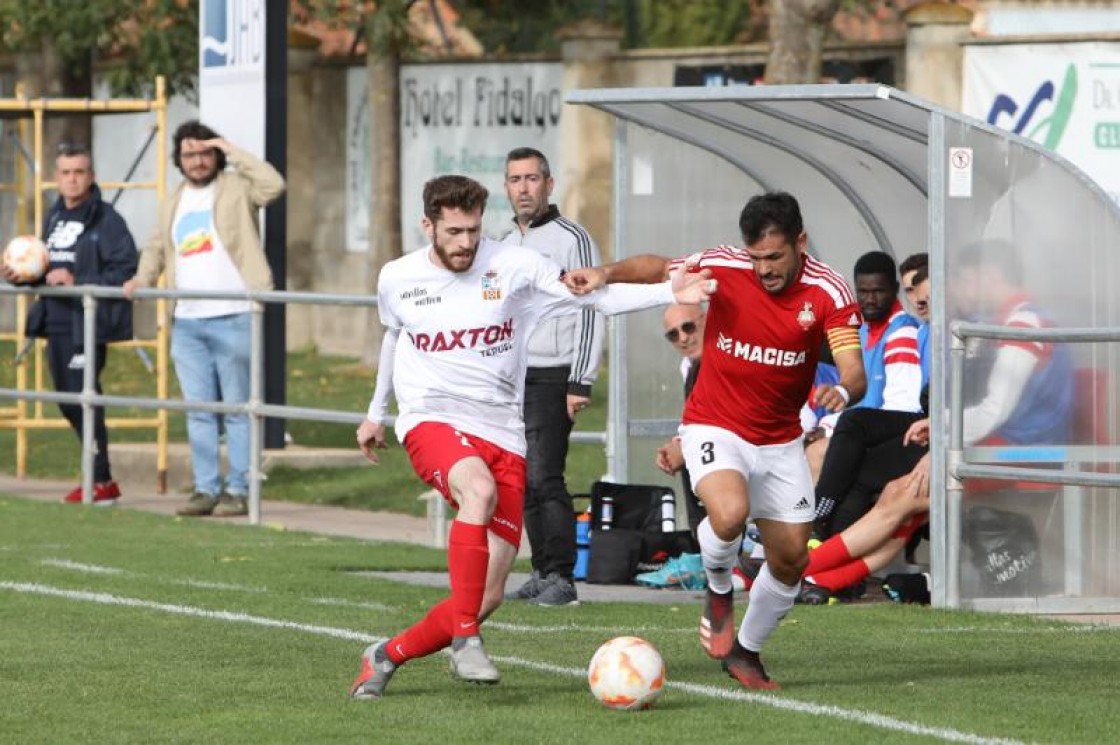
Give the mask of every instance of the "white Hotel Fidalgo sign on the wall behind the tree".
[[[424, 181], [461, 174], [489, 189], [484, 230], [498, 238], [513, 211], [503, 187], [506, 153], [536, 148], [560, 165], [560, 63], [463, 63], [401, 68], [401, 223], [405, 251], [428, 243], [420, 230]], [[368, 250], [370, 152], [365, 68], [347, 80], [347, 248]], [[562, 179], [552, 202], [559, 203]]]

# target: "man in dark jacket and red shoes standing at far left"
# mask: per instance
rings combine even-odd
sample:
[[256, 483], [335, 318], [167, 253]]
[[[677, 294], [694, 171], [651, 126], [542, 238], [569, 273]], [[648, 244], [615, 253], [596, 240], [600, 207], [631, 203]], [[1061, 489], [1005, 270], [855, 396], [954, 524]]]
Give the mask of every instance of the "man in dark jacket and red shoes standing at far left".
[[[94, 183], [93, 156], [84, 145], [64, 143], [55, 159], [58, 201], [47, 214], [43, 236], [50, 253], [47, 273], [40, 282], [54, 286], [104, 285], [119, 287], [137, 270], [137, 248], [124, 220], [112, 205], [102, 201]], [[4, 278], [15, 276], [4, 267]], [[80, 298], [44, 297], [28, 315], [28, 334], [47, 337], [47, 363], [55, 390], [76, 393], [82, 390], [83, 311]], [[96, 387], [101, 392], [101, 371], [105, 366], [105, 345], [132, 338], [132, 304], [128, 300], [99, 300], [96, 319]], [[71, 427], [82, 437], [82, 407], [60, 403], [58, 408]], [[93, 501], [113, 504], [121, 490], [109, 467], [109, 432], [105, 411], [94, 409], [96, 451], [93, 459]], [[75, 488], [66, 502], [81, 502], [82, 488]]]

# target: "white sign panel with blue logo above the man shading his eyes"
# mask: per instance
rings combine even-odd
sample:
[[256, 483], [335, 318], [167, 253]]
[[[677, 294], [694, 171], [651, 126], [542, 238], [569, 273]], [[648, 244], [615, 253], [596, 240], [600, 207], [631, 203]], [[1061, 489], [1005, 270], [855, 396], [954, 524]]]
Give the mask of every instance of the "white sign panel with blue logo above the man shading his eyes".
[[264, 0], [198, 3], [202, 122], [264, 157]]

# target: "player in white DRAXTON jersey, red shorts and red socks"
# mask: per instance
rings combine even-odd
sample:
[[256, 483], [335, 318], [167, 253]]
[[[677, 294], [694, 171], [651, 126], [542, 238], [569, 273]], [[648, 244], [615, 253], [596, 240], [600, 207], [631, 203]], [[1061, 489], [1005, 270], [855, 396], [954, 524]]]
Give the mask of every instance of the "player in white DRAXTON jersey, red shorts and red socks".
[[700, 302], [708, 273], [679, 272], [659, 287], [571, 295], [560, 267], [535, 251], [482, 238], [486, 189], [465, 176], [440, 176], [423, 189], [421, 225], [431, 244], [391, 261], [377, 278], [386, 327], [377, 382], [357, 444], [376, 464], [386, 447], [389, 397], [396, 435], [417, 474], [458, 509], [448, 537], [450, 597], [419, 623], [362, 654], [351, 688], [381, 698], [401, 664], [451, 646], [451, 674], [494, 683], [479, 624], [502, 603], [517, 555], [525, 488], [521, 418], [528, 343], [538, 322], [585, 307], [624, 313]]

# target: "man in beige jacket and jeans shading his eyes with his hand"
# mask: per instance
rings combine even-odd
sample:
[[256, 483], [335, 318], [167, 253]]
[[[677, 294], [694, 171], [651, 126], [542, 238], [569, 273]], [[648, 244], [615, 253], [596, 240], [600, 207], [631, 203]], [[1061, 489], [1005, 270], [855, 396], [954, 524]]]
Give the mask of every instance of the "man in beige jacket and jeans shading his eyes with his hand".
[[[185, 180], [160, 205], [156, 235], [140, 255], [124, 294], [152, 287], [160, 273], [178, 290], [272, 289], [258, 212], [283, 194], [269, 164], [189, 121], [174, 136], [172, 159]], [[227, 168], [228, 166], [228, 168]], [[174, 305], [171, 358], [187, 401], [244, 403], [250, 385], [250, 304], [179, 300]], [[187, 413], [194, 493], [180, 515], [248, 513], [249, 418], [226, 415], [230, 469], [223, 484], [216, 413]]]

